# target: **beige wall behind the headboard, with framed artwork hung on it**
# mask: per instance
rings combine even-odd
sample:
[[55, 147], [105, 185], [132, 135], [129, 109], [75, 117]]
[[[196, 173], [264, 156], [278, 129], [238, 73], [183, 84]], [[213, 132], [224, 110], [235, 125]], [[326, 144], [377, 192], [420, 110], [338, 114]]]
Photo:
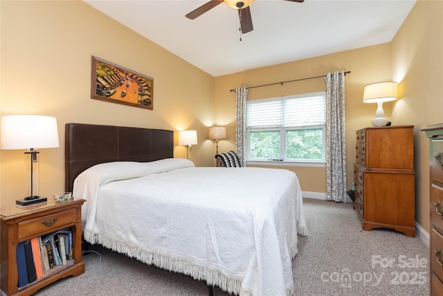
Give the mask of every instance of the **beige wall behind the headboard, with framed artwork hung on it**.
[[[0, 3], [0, 113], [57, 118], [60, 148], [40, 150], [40, 195], [64, 191], [69, 122], [197, 130], [192, 160], [213, 165], [205, 128], [213, 125], [212, 76], [82, 1]], [[154, 110], [92, 100], [91, 55], [154, 78]], [[0, 153], [0, 201], [14, 204], [26, 193], [26, 158], [21, 150]], [[186, 157], [186, 149], [177, 146], [174, 156]]]

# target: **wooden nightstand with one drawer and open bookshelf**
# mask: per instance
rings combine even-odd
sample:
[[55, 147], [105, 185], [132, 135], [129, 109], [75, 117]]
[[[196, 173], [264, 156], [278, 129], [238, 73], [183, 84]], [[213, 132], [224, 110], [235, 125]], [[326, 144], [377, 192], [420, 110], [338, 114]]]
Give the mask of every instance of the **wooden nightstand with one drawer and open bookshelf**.
[[[1, 292], [6, 295], [32, 295], [40, 288], [73, 275], [84, 273], [82, 262], [82, 212], [85, 200], [55, 202], [0, 209], [1, 222]], [[73, 259], [66, 265], [51, 268], [48, 274], [26, 286], [17, 288], [17, 245], [22, 241], [69, 228], [72, 232]]]

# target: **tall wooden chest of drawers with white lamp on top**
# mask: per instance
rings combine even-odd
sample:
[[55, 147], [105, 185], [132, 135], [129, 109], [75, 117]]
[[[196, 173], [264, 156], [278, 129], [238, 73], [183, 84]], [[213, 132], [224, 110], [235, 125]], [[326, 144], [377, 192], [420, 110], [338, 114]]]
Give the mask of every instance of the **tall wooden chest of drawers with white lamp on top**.
[[354, 208], [363, 230], [415, 236], [414, 126], [356, 131]]

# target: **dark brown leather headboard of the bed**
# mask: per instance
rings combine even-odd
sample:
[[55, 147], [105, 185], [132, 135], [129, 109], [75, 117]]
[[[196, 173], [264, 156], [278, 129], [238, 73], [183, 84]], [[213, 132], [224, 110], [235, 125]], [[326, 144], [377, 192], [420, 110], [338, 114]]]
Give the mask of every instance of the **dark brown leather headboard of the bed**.
[[174, 132], [114, 125], [66, 123], [65, 189], [82, 171], [103, 162], [152, 162], [174, 157]]

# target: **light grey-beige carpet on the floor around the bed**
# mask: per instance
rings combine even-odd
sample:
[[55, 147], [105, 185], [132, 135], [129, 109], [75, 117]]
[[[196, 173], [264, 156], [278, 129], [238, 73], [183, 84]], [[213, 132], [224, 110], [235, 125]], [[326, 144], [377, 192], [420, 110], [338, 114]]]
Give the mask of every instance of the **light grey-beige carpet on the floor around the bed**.
[[[428, 248], [388, 229], [361, 230], [352, 204], [304, 200], [309, 237], [299, 236], [294, 295], [429, 295]], [[36, 295], [208, 295], [206, 284], [111, 252], [83, 256], [87, 270]], [[214, 288], [215, 296], [229, 294]]]

